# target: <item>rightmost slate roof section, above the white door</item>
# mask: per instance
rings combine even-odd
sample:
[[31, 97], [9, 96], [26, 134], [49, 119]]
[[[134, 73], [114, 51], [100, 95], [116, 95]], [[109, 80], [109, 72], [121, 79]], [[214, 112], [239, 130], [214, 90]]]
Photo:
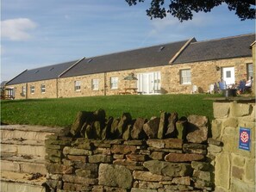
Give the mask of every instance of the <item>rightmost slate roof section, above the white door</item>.
[[252, 56], [250, 45], [254, 40], [255, 34], [243, 34], [218, 40], [191, 42], [172, 64]]

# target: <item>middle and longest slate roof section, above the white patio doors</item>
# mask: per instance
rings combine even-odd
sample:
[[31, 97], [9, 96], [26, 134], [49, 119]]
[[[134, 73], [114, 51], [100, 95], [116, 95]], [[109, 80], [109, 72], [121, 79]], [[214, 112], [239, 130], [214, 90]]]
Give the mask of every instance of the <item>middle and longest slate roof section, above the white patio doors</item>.
[[61, 77], [75, 77], [109, 71], [132, 70], [160, 65], [169, 61], [188, 40], [150, 46], [121, 53], [86, 58], [66, 71]]

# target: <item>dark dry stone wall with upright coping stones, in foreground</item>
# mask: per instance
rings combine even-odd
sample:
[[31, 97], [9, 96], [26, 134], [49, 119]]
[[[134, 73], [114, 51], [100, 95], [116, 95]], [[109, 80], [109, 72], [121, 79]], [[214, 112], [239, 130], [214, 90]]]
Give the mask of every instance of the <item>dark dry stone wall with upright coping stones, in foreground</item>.
[[150, 120], [81, 111], [46, 140], [47, 187], [58, 192], [213, 191], [204, 116], [162, 112]]

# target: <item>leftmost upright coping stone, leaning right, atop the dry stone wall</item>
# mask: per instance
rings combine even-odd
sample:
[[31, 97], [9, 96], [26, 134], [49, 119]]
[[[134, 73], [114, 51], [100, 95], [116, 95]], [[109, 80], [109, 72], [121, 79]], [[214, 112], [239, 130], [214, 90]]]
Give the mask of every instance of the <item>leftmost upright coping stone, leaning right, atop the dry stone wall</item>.
[[79, 111], [75, 121], [72, 124], [70, 133], [72, 133], [72, 135], [74, 136], [78, 135], [78, 133], [80, 133], [81, 128], [84, 125], [84, 122], [86, 121], [88, 116], [91, 116], [92, 114], [93, 114], [92, 112]]

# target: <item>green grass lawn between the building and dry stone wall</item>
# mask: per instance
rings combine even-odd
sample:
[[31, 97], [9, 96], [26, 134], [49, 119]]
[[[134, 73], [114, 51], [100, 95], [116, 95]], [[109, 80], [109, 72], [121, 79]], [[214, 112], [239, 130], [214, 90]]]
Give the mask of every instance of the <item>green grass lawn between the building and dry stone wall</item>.
[[[210, 95], [90, 96], [78, 98], [1, 101], [1, 121], [6, 124], [30, 124], [64, 127], [72, 124], [78, 111], [103, 108], [107, 116], [120, 117], [128, 112], [137, 117], [159, 116], [160, 111], [178, 112], [178, 116], [205, 115], [213, 119]], [[212, 97], [212, 95], [211, 95]]]

